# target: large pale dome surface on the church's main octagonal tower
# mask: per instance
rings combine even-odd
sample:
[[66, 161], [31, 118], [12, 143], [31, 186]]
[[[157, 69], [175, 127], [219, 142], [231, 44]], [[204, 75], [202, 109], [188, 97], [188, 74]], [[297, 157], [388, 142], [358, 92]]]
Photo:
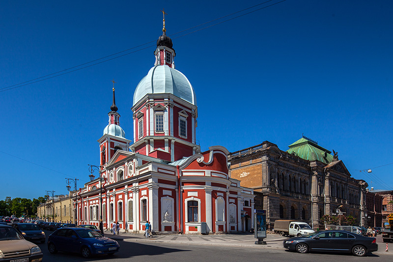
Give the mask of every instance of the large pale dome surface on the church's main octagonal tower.
[[171, 93], [197, 105], [193, 86], [180, 71], [168, 65], [156, 65], [140, 80], [134, 92], [134, 105], [146, 94]]

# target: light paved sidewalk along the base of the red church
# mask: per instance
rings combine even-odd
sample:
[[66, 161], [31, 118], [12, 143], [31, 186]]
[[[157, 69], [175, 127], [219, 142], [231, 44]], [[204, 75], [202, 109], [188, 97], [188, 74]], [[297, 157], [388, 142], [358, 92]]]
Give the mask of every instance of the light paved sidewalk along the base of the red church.
[[203, 245], [225, 245], [225, 246], [253, 246], [263, 248], [280, 248], [283, 249], [282, 241], [287, 237], [278, 234], [267, 234], [264, 239], [266, 245], [256, 245], [254, 234], [236, 233], [236, 234], [209, 234], [209, 235], [193, 235], [193, 234], [159, 234], [149, 238], [140, 233], [120, 233], [113, 235], [110, 231], [106, 231], [106, 237], [127, 242], [167, 242], [167, 243], [187, 243], [187, 244], [203, 244]]

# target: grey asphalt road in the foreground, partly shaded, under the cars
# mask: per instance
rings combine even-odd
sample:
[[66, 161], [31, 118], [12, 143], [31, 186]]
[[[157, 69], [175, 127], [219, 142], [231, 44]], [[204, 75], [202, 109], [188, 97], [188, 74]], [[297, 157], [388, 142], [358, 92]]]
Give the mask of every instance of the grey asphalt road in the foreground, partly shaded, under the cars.
[[[52, 232], [45, 232], [48, 236]], [[350, 254], [310, 253], [298, 254], [284, 250], [284, 248], [266, 248], [263, 246], [218, 246], [206, 244], [184, 244], [168, 242], [129, 242], [119, 241], [120, 251], [113, 256], [96, 256], [84, 259], [79, 254], [58, 252], [51, 254], [47, 244], [38, 244], [44, 253], [44, 262], [82, 262], [82, 261], [198, 261], [198, 262], [241, 262], [241, 261], [290, 261], [290, 262], [332, 262], [343, 260], [345, 262], [392, 262], [393, 254], [371, 254], [359, 258]], [[379, 249], [383, 248], [379, 244]], [[393, 250], [392, 252], [393, 253]]]

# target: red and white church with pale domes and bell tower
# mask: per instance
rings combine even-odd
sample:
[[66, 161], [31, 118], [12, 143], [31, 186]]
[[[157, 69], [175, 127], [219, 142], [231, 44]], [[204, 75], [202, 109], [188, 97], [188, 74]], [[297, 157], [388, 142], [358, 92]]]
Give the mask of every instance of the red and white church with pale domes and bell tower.
[[195, 93], [174, 69], [175, 53], [164, 36], [157, 42], [155, 66], [134, 94], [132, 145], [120, 126], [113, 126], [120, 117], [113, 93], [110, 122], [98, 140], [102, 184], [97, 178], [78, 193], [78, 223], [98, 226], [101, 191], [105, 228], [118, 221], [122, 230], [142, 233], [149, 221], [157, 233], [250, 230], [253, 189], [229, 178], [225, 147], [200, 153]]

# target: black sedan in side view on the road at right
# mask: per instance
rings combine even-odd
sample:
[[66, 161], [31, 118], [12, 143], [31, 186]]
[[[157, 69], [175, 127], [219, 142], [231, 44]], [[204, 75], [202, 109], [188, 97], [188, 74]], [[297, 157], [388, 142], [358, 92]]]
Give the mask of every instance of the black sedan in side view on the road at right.
[[285, 239], [284, 248], [296, 250], [298, 253], [309, 251], [352, 252], [363, 257], [366, 253], [378, 250], [376, 238], [337, 230], [312, 233], [306, 237]]

